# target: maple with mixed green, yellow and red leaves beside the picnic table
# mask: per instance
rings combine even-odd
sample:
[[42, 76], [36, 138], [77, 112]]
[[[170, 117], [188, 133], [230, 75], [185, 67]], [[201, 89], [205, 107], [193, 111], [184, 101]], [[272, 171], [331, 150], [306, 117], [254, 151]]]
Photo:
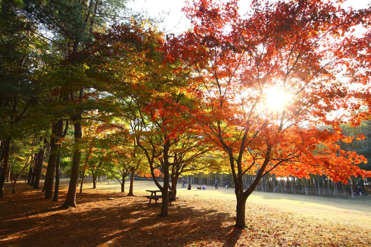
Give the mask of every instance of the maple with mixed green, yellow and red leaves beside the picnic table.
[[[93, 66], [87, 74], [100, 81], [100, 90], [113, 95], [112, 101], [122, 109], [115, 114], [127, 119], [162, 191], [161, 215], [168, 215], [169, 150], [185, 125], [191, 124], [180, 117], [185, 102], [179, 88], [187, 85], [184, 78], [188, 71], [178, 64], [164, 63], [163, 35], [146, 25], [133, 21], [130, 26], [112, 26], [108, 34], [97, 34], [88, 49]], [[164, 173], [163, 185], [154, 174], [158, 165]]]

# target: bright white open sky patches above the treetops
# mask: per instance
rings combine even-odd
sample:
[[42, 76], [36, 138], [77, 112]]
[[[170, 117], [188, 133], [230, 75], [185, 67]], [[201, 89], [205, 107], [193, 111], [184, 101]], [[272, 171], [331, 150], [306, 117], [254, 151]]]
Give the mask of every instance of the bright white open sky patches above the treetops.
[[[239, 12], [244, 14], [249, 9], [251, 0], [239, 1]], [[348, 0], [343, 7], [353, 7], [354, 9], [367, 8], [371, 0]], [[185, 6], [184, 0], [134, 0], [127, 4], [135, 12], [147, 11], [150, 17], [158, 19], [162, 16], [163, 23], [159, 24], [160, 29], [168, 33], [180, 34], [188, 27], [190, 22], [181, 11]]]

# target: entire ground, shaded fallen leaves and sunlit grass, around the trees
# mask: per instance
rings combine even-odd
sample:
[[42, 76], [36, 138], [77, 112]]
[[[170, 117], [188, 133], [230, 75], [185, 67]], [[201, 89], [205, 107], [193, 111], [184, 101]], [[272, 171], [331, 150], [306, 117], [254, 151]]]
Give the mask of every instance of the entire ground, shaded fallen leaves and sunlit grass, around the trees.
[[[233, 188], [188, 191], [178, 184], [178, 201], [169, 217], [147, 198], [125, 197], [119, 184], [84, 185], [78, 207], [59, 210], [59, 202], [17, 183], [17, 193], [0, 201], [2, 246], [370, 246], [371, 197], [306, 197], [255, 191], [247, 200], [244, 230], [233, 227]], [[128, 189], [129, 182], [125, 183]], [[9, 185], [8, 185], [9, 186]], [[193, 185], [196, 187], [196, 185]], [[155, 189], [134, 181], [134, 194]], [[108, 200], [108, 198], [115, 198]]]

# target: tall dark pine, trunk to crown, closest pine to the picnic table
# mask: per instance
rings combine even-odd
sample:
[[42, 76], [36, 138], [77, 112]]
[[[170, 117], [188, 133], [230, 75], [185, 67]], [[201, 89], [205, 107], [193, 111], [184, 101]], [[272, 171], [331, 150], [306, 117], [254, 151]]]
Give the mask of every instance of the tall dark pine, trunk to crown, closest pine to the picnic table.
[[[84, 77], [86, 67], [76, 66], [76, 54], [82, 50], [86, 43], [91, 42], [92, 32], [105, 26], [106, 20], [115, 20], [124, 7], [124, 1], [109, 0], [104, 4], [100, 0], [92, 1], [25, 1], [24, 9], [29, 16], [36, 19], [42, 29], [51, 32], [51, 42], [67, 54], [65, 67], [70, 69], [66, 73], [65, 83], [61, 85], [64, 95], [70, 95], [73, 110], [66, 111], [70, 115], [75, 129], [75, 150], [72, 162], [72, 174], [69, 190], [63, 208], [75, 207], [76, 182], [79, 176], [81, 151], [79, 144], [82, 138], [81, 120], [84, 111], [84, 94], [91, 84]], [[43, 34], [40, 32], [40, 36]], [[62, 41], [62, 42], [61, 42]], [[76, 72], [77, 73], [73, 73]], [[78, 82], [78, 83], [76, 83]], [[89, 109], [88, 109], [89, 110]], [[54, 167], [54, 162], [52, 162]], [[50, 176], [49, 176], [50, 178]], [[51, 184], [51, 183], [49, 183]]]

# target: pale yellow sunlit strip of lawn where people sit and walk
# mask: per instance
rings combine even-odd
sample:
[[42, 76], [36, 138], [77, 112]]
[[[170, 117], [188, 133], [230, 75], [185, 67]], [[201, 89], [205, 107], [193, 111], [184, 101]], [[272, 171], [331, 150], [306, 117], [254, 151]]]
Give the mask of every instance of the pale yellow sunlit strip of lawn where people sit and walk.
[[[84, 185], [84, 190], [91, 188], [92, 184]], [[197, 185], [193, 185], [192, 190], [177, 186], [177, 196], [199, 197], [202, 200], [220, 200], [236, 205], [234, 188], [226, 189], [219, 187], [215, 190], [214, 186], [207, 186], [207, 190], [197, 190]], [[145, 190], [157, 189], [152, 181], [134, 181], [135, 192], [148, 193]], [[102, 183], [97, 185], [97, 190], [108, 190], [120, 192], [120, 184]], [[129, 181], [125, 182], [125, 191], [129, 191]], [[356, 199], [344, 198], [344, 194], [339, 194], [339, 198], [305, 196], [293, 194], [281, 194], [271, 192], [254, 191], [247, 199], [246, 205], [256, 205], [272, 210], [280, 210], [282, 213], [296, 215], [298, 217], [309, 217], [315, 220], [331, 220], [345, 225], [359, 225], [364, 227], [365, 222], [371, 222], [371, 197], [357, 197]]]

